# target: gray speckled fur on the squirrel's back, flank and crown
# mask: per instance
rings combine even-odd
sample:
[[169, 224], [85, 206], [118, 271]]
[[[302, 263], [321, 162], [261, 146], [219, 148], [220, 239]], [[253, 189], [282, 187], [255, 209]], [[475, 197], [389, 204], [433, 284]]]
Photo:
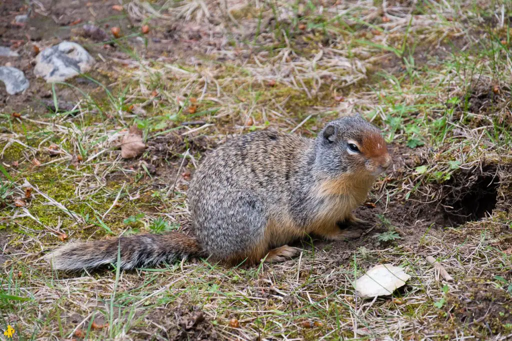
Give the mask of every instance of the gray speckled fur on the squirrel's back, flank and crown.
[[379, 133], [359, 116], [329, 126], [340, 143], [323, 137], [326, 128], [315, 140], [267, 130], [233, 139], [206, 157], [190, 183], [188, 204], [196, 236], [212, 258], [252, 248], [269, 217], [281, 221], [288, 214], [297, 228], [307, 226], [323, 204], [312, 188], [350, 168], [345, 141], [365, 130]]

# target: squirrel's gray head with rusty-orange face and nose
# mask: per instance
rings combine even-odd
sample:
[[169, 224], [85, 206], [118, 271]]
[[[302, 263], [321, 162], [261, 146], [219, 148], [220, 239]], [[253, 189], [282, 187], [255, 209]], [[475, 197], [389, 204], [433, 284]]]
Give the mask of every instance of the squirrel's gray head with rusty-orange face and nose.
[[359, 115], [328, 123], [316, 138], [316, 167], [330, 176], [377, 177], [390, 165], [380, 130]]

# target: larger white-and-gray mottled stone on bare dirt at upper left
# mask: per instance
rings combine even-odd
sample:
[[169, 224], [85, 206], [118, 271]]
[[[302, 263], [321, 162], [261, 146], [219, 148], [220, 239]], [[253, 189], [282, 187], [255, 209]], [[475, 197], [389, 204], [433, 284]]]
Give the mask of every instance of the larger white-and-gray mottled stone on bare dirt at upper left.
[[61, 82], [87, 72], [94, 65], [94, 58], [79, 44], [62, 41], [43, 50], [35, 58], [34, 74], [47, 82]]

